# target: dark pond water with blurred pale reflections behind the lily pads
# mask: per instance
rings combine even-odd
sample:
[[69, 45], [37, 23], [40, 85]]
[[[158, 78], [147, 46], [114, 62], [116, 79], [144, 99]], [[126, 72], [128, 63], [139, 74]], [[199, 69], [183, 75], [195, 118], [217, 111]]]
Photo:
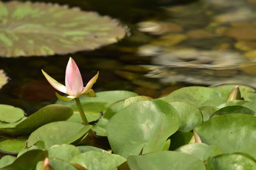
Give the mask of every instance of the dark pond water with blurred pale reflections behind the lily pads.
[[[44, 1], [50, 2], [50, 1]], [[177, 3], [179, 2], [179, 3]], [[244, 83], [256, 86], [256, 0], [54, 1], [117, 18], [130, 34], [92, 52], [49, 57], [0, 58], [10, 80], [0, 103], [33, 113], [54, 103], [44, 69], [60, 82], [68, 57], [93, 87], [160, 97], [188, 85]]]

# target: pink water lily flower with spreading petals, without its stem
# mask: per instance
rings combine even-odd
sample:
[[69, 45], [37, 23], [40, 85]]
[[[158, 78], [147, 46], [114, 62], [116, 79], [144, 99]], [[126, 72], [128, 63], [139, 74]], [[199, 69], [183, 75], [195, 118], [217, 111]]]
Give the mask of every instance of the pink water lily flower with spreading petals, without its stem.
[[83, 96], [96, 96], [95, 92], [92, 90], [93, 84], [96, 82], [99, 72], [87, 83], [85, 87], [83, 87], [83, 79], [81, 73], [76, 65], [76, 62], [70, 57], [68, 60], [67, 68], [66, 68], [66, 76], [65, 76], [65, 85], [62, 85], [58, 81], [54, 80], [42, 70], [45, 78], [49, 83], [54, 87], [54, 89], [68, 94], [67, 97], [60, 96], [60, 94], [56, 93], [56, 96], [63, 101], [71, 101], [81, 95]]

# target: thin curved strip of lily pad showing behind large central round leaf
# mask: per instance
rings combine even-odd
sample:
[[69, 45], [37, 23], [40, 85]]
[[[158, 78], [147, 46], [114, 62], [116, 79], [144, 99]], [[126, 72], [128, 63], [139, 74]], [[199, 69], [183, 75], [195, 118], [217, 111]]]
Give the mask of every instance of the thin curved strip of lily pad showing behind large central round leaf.
[[97, 124], [93, 125], [92, 130], [95, 131], [98, 136], [107, 136], [106, 126], [108, 125], [108, 122], [110, 118], [113, 117], [113, 115], [115, 115], [118, 111], [126, 108], [127, 106], [130, 106], [131, 104], [137, 103], [138, 101], [151, 100], [152, 98], [147, 96], [134, 96], [111, 104], [104, 113], [103, 117], [99, 119]]

